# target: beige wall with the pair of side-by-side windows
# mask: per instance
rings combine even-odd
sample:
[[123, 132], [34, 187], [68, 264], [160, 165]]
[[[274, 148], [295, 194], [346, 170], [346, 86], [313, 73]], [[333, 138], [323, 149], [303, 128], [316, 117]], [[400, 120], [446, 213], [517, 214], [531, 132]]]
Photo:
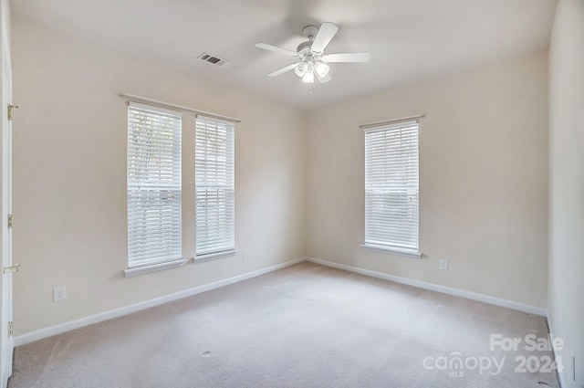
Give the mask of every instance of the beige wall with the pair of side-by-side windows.
[[[14, 280], [16, 335], [303, 256], [301, 112], [13, 22], [14, 100], [20, 106], [14, 261], [22, 266]], [[123, 277], [127, 106], [120, 91], [242, 120], [235, 134], [235, 233], [236, 248], [248, 258]], [[183, 122], [183, 254], [192, 257], [193, 116]], [[53, 303], [52, 288], [61, 285], [68, 299]]]

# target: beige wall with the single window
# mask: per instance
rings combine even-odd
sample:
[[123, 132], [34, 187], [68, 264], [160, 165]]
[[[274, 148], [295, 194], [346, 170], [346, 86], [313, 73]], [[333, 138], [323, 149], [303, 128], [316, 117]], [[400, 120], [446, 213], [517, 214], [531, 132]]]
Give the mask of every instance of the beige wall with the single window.
[[[364, 251], [359, 125], [417, 114], [423, 257]], [[308, 256], [546, 307], [546, 51], [314, 110], [307, 166]]]

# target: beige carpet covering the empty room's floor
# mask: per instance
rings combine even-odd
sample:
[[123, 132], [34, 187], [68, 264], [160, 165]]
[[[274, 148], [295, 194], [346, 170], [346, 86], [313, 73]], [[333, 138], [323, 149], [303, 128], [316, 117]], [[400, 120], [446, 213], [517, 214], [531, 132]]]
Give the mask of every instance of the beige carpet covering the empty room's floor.
[[301, 263], [16, 348], [8, 386], [558, 387], [555, 372], [515, 372], [517, 356], [550, 352], [490, 351], [490, 334], [545, 337], [547, 324]]

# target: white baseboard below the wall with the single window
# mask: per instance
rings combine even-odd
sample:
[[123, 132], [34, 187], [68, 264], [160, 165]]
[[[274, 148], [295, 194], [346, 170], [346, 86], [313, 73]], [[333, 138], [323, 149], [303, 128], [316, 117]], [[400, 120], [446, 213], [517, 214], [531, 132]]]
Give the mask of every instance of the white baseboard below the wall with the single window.
[[535, 306], [530, 306], [530, 305], [515, 302], [512, 300], [489, 297], [487, 295], [478, 294], [478, 293], [471, 292], [471, 291], [465, 291], [464, 289], [440, 286], [438, 284], [427, 283], [425, 281], [420, 281], [420, 280], [413, 280], [411, 278], [396, 277], [394, 275], [388, 275], [388, 274], [384, 274], [382, 272], [371, 271], [369, 269], [362, 269], [359, 267], [346, 266], [344, 264], [334, 263], [332, 261], [327, 261], [327, 260], [321, 260], [319, 258], [314, 258], [314, 257], [305, 257], [305, 259], [307, 261], [312, 262], [312, 263], [321, 264], [321, 265], [327, 266], [327, 267], [344, 269], [344, 270], [349, 271], [349, 272], [355, 272], [357, 274], [370, 276], [372, 278], [382, 278], [385, 280], [391, 280], [391, 281], [394, 281], [396, 283], [406, 284], [408, 286], [430, 289], [432, 291], [442, 292], [443, 294], [454, 295], [455, 297], [477, 300], [477, 301], [489, 303], [489, 304], [492, 304], [495, 306], [506, 307], [507, 309], [516, 309], [519, 311], [527, 312], [529, 314], [539, 315], [541, 317], [547, 317], [546, 309], [542, 309], [542, 308], [535, 307]]

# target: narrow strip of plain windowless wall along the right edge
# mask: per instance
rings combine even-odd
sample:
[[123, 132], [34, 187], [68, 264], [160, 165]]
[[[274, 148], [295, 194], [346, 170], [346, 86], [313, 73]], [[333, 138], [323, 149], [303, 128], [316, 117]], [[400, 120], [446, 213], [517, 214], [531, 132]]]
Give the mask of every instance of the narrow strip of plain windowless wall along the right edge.
[[[584, 383], [584, 2], [559, 0], [549, 51], [549, 326], [564, 388]], [[571, 357], [576, 359], [573, 379]]]

